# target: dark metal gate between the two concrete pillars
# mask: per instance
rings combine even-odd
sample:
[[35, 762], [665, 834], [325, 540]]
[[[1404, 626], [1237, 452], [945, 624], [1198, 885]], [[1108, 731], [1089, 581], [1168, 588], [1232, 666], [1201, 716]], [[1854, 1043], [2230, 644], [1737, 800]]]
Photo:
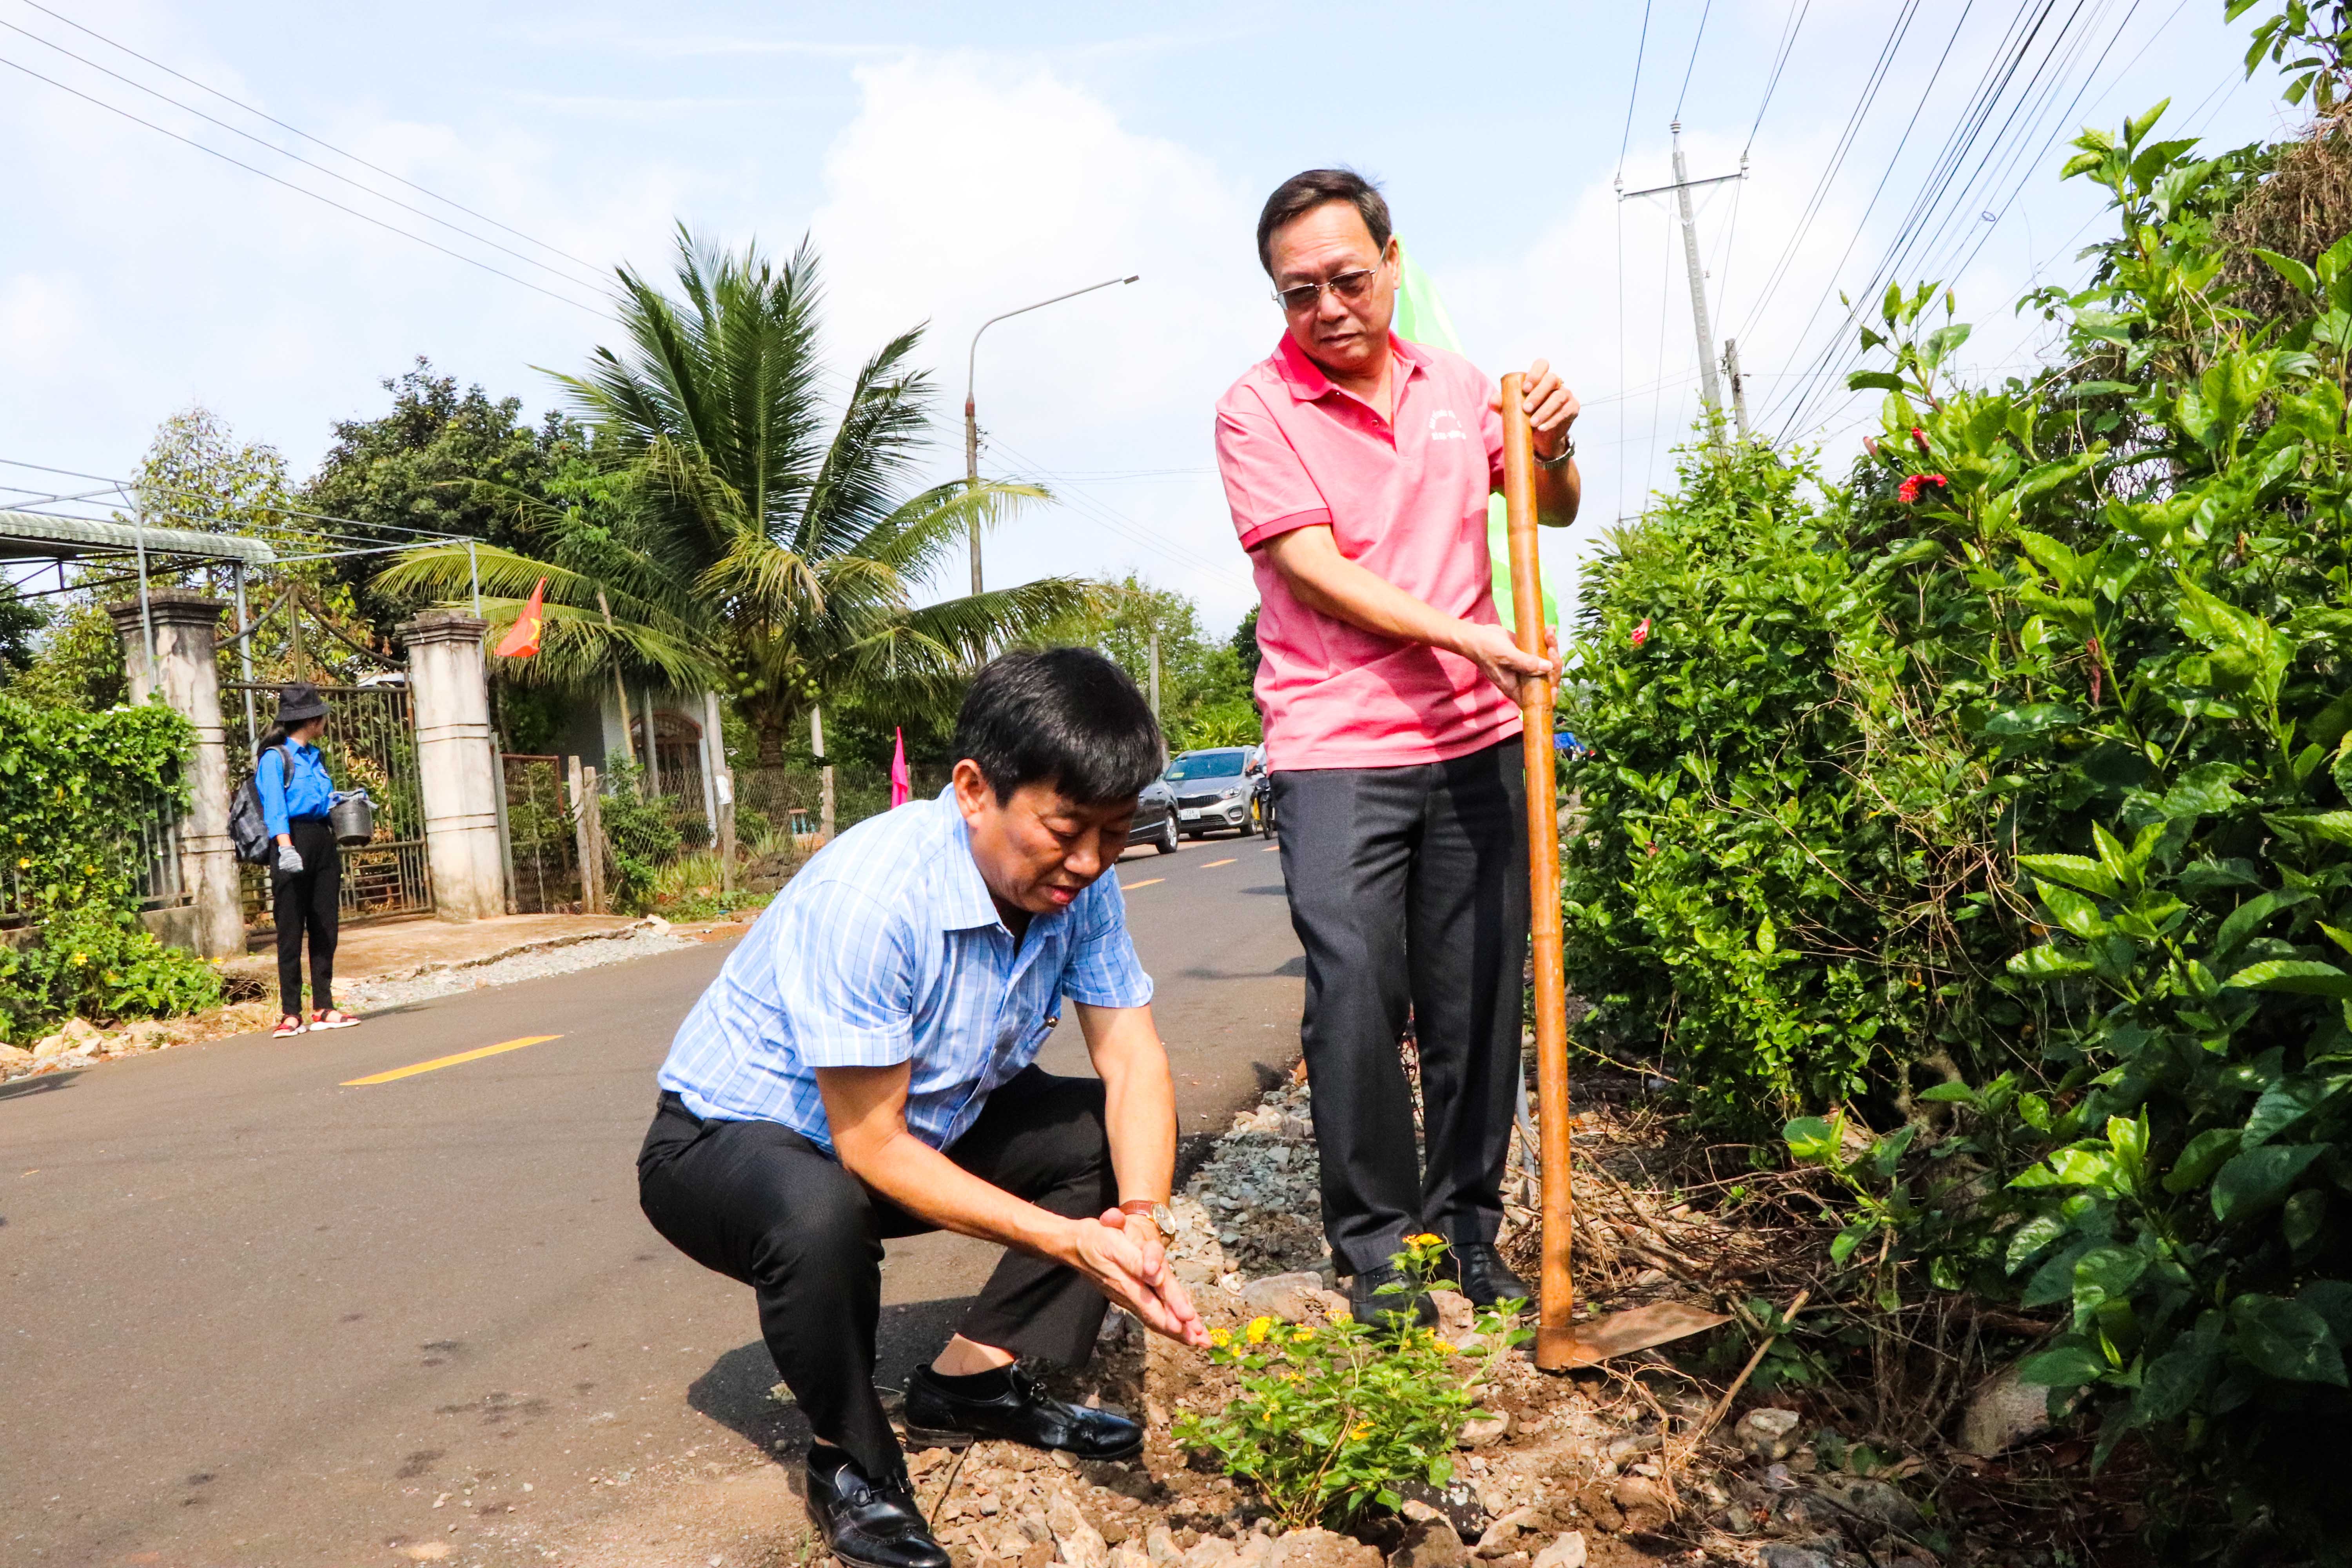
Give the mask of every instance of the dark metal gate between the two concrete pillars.
[[[433, 877], [426, 872], [426, 804], [416, 783], [416, 724], [409, 719], [409, 689], [397, 679], [362, 686], [320, 686], [332, 710], [320, 752], [336, 790], [367, 790], [376, 804], [376, 837], [360, 849], [343, 849], [343, 924], [433, 912]], [[256, 726], [268, 726], [278, 710], [278, 686], [223, 682], [221, 708], [228, 710], [228, 778], [242, 783], [252, 771], [252, 741], [238, 710], [252, 696]], [[240, 867], [245, 929], [275, 929], [270, 912], [270, 872], [266, 865]]]

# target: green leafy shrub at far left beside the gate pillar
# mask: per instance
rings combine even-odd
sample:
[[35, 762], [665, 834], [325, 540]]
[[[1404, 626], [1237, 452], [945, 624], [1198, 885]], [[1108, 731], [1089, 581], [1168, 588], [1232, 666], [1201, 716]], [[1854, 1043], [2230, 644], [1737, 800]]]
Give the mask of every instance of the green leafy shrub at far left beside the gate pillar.
[[71, 1016], [169, 1018], [221, 997], [219, 973], [139, 926], [139, 830], [186, 804], [193, 733], [162, 705], [85, 708], [0, 693], [0, 891], [35, 936], [0, 947], [0, 1041]]

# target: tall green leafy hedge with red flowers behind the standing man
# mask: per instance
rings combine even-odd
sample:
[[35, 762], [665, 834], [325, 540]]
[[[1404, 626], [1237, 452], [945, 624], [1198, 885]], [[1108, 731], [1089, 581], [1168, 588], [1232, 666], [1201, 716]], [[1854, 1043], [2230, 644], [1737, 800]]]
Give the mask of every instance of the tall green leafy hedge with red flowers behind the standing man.
[[1851, 1107], [1785, 1135], [1846, 1192], [1856, 1295], [2056, 1312], [2023, 1373], [2100, 1460], [2145, 1434], [2209, 1523], [2333, 1549], [2352, 237], [2260, 256], [2305, 310], [2239, 308], [2216, 233], [2263, 158], [2159, 115], [2067, 165], [2117, 235], [2032, 301], [2063, 367], [1964, 386], [1950, 296], [1889, 289], [1846, 484], [1804, 515], [1776, 461], [1698, 456], [1595, 571], [1571, 973], [1588, 1039], [1715, 1117]]

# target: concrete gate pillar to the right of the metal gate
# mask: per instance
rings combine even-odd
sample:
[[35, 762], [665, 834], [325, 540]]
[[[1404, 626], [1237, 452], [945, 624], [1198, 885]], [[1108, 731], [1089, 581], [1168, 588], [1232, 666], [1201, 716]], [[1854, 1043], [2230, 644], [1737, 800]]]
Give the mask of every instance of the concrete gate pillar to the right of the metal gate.
[[400, 625], [409, 651], [426, 865], [440, 919], [506, 914], [499, 778], [489, 759], [489, 689], [482, 675], [487, 630], [489, 621], [461, 609], [428, 609]]

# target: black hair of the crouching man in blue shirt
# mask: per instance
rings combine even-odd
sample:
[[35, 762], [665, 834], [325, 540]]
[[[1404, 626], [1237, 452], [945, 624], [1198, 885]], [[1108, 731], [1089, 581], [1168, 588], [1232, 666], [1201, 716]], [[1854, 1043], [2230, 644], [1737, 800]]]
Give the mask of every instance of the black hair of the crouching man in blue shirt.
[[1082, 806], [1134, 799], [1160, 776], [1160, 719], [1127, 670], [1094, 649], [1000, 654], [955, 717], [955, 757], [997, 802], [1044, 783]]

